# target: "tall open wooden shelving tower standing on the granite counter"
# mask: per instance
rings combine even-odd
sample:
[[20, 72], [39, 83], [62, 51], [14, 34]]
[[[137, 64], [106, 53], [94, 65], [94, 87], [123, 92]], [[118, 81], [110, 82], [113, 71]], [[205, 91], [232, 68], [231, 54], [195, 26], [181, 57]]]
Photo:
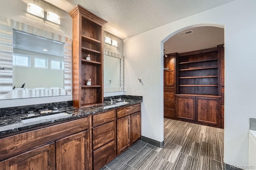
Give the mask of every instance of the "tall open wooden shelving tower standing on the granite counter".
[[[107, 21], [77, 5], [73, 20], [73, 106], [103, 103], [103, 26]], [[86, 56], [90, 54], [90, 60]], [[91, 79], [91, 85], [86, 80]]]

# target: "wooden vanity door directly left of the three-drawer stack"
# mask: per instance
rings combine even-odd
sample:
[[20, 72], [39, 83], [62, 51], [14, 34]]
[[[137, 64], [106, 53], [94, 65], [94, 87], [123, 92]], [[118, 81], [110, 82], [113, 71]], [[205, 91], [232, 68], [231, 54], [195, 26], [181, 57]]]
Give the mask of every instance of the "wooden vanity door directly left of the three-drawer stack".
[[84, 170], [88, 164], [88, 131], [56, 141], [56, 170]]

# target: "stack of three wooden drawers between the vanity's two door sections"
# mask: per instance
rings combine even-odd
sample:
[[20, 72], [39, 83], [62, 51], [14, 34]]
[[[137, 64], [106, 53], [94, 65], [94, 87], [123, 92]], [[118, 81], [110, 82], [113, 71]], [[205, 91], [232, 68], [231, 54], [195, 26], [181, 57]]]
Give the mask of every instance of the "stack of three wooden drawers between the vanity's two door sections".
[[92, 115], [93, 169], [99, 170], [116, 157], [116, 111]]

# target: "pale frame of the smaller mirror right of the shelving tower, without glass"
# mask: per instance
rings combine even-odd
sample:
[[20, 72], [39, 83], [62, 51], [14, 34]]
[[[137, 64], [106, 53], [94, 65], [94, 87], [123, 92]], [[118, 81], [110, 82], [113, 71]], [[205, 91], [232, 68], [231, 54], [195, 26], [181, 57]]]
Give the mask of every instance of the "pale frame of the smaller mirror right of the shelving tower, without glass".
[[104, 55], [120, 59], [120, 87], [104, 87], [104, 93], [124, 91], [124, 56], [104, 49]]

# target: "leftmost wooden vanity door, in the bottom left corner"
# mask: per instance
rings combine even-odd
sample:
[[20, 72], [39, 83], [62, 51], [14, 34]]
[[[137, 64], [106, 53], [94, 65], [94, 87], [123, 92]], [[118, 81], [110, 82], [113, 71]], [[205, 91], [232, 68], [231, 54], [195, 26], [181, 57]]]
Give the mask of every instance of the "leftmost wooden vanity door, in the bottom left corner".
[[1, 170], [55, 170], [55, 144], [25, 152], [0, 162]]

